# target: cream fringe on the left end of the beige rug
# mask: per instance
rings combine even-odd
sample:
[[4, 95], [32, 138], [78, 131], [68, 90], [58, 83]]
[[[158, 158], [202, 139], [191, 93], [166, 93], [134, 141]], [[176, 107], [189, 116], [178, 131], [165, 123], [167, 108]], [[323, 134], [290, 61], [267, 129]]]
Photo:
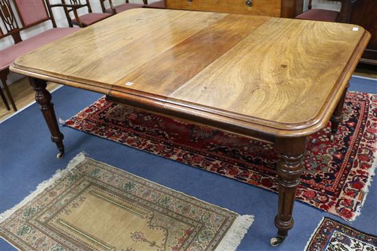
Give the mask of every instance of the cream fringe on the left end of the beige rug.
[[71, 161], [69, 161], [68, 166], [66, 166], [66, 168], [64, 170], [60, 170], [60, 169], [56, 170], [56, 173], [53, 174], [53, 176], [51, 176], [50, 179], [40, 183], [36, 187], [36, 189], [34, 191], [32, 191], [27, 197], [25, 197], [21, 202], [19, 202], [19, 204], [16, 204], [11, 209], [8, 209], [8, 210], [4, 211], [3, 213], [1, 213], [0, 214], [0, 224], [3, 221], [5, 221], [6, 219], [8, 219], [8, 217], [10, 217], [10, 215], [15, 213], [17, 210], [21, 209], [21, 207], [25, 206], [25, 204], [29, 203], [31, 200], [36, 198], [36, 196], [38, 196], [38, 194], [40, 194], [42, 191], [44, 191], [47, 187], [53, 185], [58, 179], [62, 178], [62, 176], [65, 176], [66, 174], [71, 172], [72, 169], [75, 168], [75, 166], [77, 166], [79, 163], [84, 161], [84, 159], [85, 159], [85, 153], [79, 153], [79, 154], [76, 155], [76, 157], [74, 157], [73, 159], [71, 159]]

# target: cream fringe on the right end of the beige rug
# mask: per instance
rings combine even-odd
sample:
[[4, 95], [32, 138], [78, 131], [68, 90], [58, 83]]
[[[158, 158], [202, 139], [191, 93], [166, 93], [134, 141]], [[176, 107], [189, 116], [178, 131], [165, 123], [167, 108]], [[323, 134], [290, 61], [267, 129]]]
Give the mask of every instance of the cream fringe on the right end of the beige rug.
[[236, 217], [228, 232], [216, 247], [216, 251], [233, 251], [236, 250], [241, 240], [246, 235], [247, 230], [254, 222], [254, 215], [240, 215]]

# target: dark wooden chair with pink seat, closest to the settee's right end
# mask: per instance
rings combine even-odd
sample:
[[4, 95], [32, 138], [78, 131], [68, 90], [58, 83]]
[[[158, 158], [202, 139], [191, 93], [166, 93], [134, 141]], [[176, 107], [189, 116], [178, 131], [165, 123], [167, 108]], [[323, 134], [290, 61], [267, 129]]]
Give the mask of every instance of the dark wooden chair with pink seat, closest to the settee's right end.
[[[73, 27], [73, 25], [77, 25], [79, 27], [87, 27], [112, 15], [111, 13], [92, 12], [92, 7], [90, 6], [88, 0], [62, 0], [62, 4], [60, 6], [64, 8], [66, 20], [68, 21], [69, 27]], [[77, 14], [77, 10], [80, 8], [88, 8], [88, 13], [79, 16], [79, 14]], [[70, 12], [73, 12], [74, 18], [71, 18]]]

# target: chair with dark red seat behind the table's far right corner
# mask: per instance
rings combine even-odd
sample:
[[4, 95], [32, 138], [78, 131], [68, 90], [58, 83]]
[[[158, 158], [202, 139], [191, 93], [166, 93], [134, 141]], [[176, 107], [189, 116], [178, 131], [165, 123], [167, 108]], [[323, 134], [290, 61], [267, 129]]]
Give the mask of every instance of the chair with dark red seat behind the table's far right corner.
[[341, 2], [340, 12], [334, 10], [313, 9], [312, 0], [309, 0], [308, 10], [296, 16], [298, 19], [350, 23], [352, 5], [356, 0], [335, 0]]

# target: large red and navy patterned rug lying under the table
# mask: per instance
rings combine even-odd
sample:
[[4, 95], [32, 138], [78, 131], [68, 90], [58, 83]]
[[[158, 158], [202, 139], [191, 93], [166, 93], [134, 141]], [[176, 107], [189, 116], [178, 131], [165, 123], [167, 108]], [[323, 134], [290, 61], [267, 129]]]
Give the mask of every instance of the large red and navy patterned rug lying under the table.
[[[345, 220], [359, 214], [376, 165], [377, 95], [348, 92], [335, 141], [330, 124], [311, 138], [297, 199]], [[66, 125], [271, 191], [278, 155], [271, 144], [149, 114], [99, 99]]]

